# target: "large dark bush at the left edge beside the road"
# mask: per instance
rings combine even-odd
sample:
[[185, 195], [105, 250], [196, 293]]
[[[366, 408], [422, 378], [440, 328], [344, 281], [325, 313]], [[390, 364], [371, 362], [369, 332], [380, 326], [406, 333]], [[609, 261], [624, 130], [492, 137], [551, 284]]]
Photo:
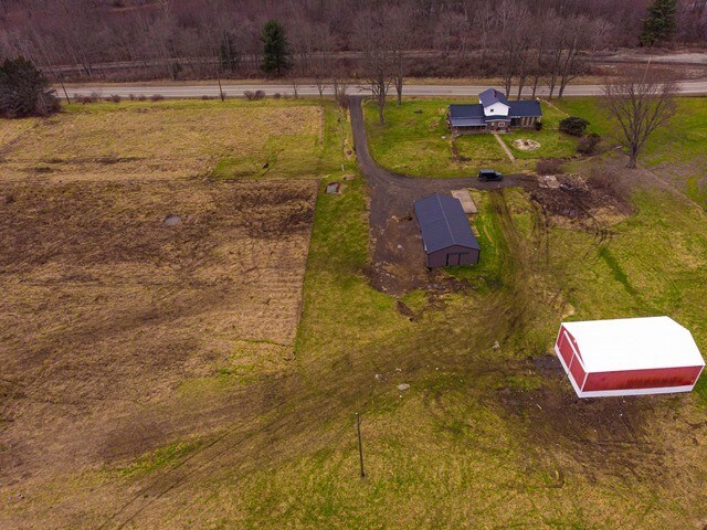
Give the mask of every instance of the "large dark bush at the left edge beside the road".
[[7, 118], [49, 116], [60, 109], [49, 81], [31, 61], [6, 59], [0, 66], [0, 115]]

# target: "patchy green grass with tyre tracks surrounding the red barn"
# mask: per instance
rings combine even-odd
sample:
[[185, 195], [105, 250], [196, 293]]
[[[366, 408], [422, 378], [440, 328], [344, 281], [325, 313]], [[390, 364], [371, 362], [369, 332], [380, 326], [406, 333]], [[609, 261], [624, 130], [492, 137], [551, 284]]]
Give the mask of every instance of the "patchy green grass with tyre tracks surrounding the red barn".
[[[405, 301], [423, 317], [410, 322], [367, 285], [362, 192], [357, 181], [344, 197], [319, 198], [297, 341], [308, 398], [292, 411], [302, 414], [296, 435], [273, 447], [282, 458], [224, 483], [239, 485], [220, 501], [247, 507], [243, 528], [692, 528], [704, 517], [705, 491], [692, 487], [707, 471], [693, 459], [701, 449], [671, 430], [685, 435], [685, 422], [701, 417], [705, 381], [695, 395], [626, 405], [626, 427], [601, 403], [571, 407], [590, 407], [581, 421], [564, 417], [551, 396], [571, 395], [567, 380], [526, 360], [550, 352], [568, 312], [668, 314], [704, 344], [703, 213], [672, 193], [639, 191], [637, 213], [599, 243], [582, 230], [539, 229], [523, 191], [475, 193], [474, 223], [492, 250], [481, 267], [451, 274], [479, 288], [434, 301], [412, 293]], [[398, 391], [402, 382], [411, 389]], [[644, 444], [669, 462], [646, 460]]]

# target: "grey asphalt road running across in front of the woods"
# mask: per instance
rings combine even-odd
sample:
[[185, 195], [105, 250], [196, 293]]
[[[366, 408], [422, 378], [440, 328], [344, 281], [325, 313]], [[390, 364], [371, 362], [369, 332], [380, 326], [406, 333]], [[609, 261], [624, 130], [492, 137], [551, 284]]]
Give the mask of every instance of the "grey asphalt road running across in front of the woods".
[[[60, 96], [64, 95], [64, 91], [61, 86], [55, 86]], [[403, 92], [408, 96], [476, 96], [479, 92], [485, 91], [488, 86], [476, 85], [415, 85], [408, 84], [404, 86]], [[500, 86], [496, 88], [502, 89]], [[223, 92], [226, 97], [242, 97], [245, 91], [263, 91], [267, 96], [274, 94], [293, 95], [294, 87], [291, 84], [224, 84]], [[705, 81], [687, 81], [680, 83], [679, 92], [688, 95], [703, 95], [707, 94], [707, 80]], [[207, 85], [189, 85], [189, 84], [165, 84], [165, 85], [87, 85], [87, 86], [67, 86], [66, 93], [70, 97], [76, 95], [89, 95], [96, 93], [102, 97], [108, 97], [117, 95], [122, 97], [133, 96], [152, 96], [160, 95], [167, 98], [199, 98], [203, 96], [219, 97], [218, 84]], [[297, 93], [300, 96], [318, 96], [319, 91], [316, 85], [298, 85]], [[324, 93], [331, 95], [333, 88], [326, 86]], [[351, 85], [349, 86], [348, 94], [350, 95], [368, 95], [370, 89], [365, 85]], [[564, 91], [568, 96], [595, 96], [601, 94], [600, 85], [569, 85]], [[524, 91], [524, 95], [529, 96], [530, 91]], [[538, 96], [544, 97], [548, 95], [548, 88], [541, 87]], [[515, 93], [513, 94], [515, 96]]]

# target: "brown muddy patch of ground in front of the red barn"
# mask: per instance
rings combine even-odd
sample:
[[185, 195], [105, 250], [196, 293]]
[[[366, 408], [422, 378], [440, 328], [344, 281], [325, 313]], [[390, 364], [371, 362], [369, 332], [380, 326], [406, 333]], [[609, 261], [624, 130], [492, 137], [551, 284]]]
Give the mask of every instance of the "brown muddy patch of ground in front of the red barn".
[[[539, 363], [539, 371], [552, 370], [548, 359]], [[663, 474], [664, 452], [651, 426], [656, 403], [665, 398], [581, 400], [563, 372], [551, 374], [539, 390], [506, 388], [496, 393], [505, 413], [528, 431], [524, 437], [535, 442], [542, 468], [582, 474], [592, 483], [605, 476], [643, 480]]]

